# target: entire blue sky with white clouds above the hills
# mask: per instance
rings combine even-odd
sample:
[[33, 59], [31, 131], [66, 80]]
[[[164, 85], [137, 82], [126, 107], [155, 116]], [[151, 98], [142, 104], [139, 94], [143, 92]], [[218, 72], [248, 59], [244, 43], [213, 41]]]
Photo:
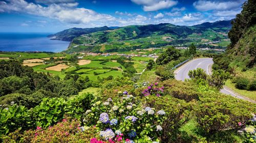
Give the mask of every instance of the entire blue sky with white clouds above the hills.
[[59, 32], [71, 27], [230, 20], [245, 0], [4, 0], [0, 32]]

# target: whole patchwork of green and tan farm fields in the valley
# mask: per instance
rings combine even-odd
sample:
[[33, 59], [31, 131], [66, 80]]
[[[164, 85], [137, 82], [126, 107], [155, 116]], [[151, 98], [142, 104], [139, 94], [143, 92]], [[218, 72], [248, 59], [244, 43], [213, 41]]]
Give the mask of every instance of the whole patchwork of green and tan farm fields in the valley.
[[[150, 54], [149, 50], [130, 51], [126, 54]], [[68, 73], [72, 75], [88, 76], [90, 80], [97, 80], [98, 77], [106, 78], [109, 76], [122, 77], [125, 67], [117, 62], [121, 55], [87, 55], [82, 60], [70, 60], [73, 55], [66, 53], [33, 53], [33, 52], [0, 52], [0, 60], [17, 60], [23, 62], [24, 66], [32, 67], [36, 72], [49, 73], [63, 79]], [[133, 56], [131, 61], [137, 73], [145, 69], [146, 64], [153, 58]]]

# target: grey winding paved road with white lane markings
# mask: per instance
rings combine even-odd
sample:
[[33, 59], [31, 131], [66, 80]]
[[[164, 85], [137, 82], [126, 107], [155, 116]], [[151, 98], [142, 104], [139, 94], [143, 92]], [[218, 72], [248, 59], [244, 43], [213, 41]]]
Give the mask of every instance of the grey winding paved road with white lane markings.
[[[213, 63], [214, 62], [212, 61], [212, 58], [200, 58], [200, 59], [191, 60], [174, 71], [175, 78], [177, 80], [184, 81], [186, 78], [189, 78], [188, 71], [195, 70], [197, 68], [203, 69], [209, 75], [209, 74], [211, 74], [211, 65]], [[236, 98], [240, 98], [240, 99], [244, 99], [244, 100], [248, 100], [248, 101], [252, 102], [251, 100], [247, 99], [246, 97], [243, 97], [241, 95], [238, 95], [237, 93], [234, 93], [232, 90], [230, 90], [227, 87], [224, 87], [222, 90], [220, 90], [220, 92], [222, 92], [224, 94], [231, 95]]]

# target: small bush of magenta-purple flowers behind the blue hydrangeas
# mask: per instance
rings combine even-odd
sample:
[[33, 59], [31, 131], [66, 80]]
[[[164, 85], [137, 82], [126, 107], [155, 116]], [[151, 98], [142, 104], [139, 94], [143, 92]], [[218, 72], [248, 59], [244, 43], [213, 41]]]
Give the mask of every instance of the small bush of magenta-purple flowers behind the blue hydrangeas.
[[154, 95], [154, 96], [162, 96], [163, 95], [163, 89], [164, 87], [159, 88], [158, 82], [154, 84], [150, 84], [146, 89], [143, 90], [142, 95], [148, 96], [148, 95]]

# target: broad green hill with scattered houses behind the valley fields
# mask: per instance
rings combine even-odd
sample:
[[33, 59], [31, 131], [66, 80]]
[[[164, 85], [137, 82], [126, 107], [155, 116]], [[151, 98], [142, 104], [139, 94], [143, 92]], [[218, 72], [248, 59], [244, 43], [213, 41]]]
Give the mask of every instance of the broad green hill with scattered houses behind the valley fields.
[[67, 52], [129, 51], [192, 42], [226, 46], [229, 44], [227, 32], [230, 28], [231, 20], [206, 22], [194, 26], [178, 26], [170, 23], [130, 25], [76, 37]]

